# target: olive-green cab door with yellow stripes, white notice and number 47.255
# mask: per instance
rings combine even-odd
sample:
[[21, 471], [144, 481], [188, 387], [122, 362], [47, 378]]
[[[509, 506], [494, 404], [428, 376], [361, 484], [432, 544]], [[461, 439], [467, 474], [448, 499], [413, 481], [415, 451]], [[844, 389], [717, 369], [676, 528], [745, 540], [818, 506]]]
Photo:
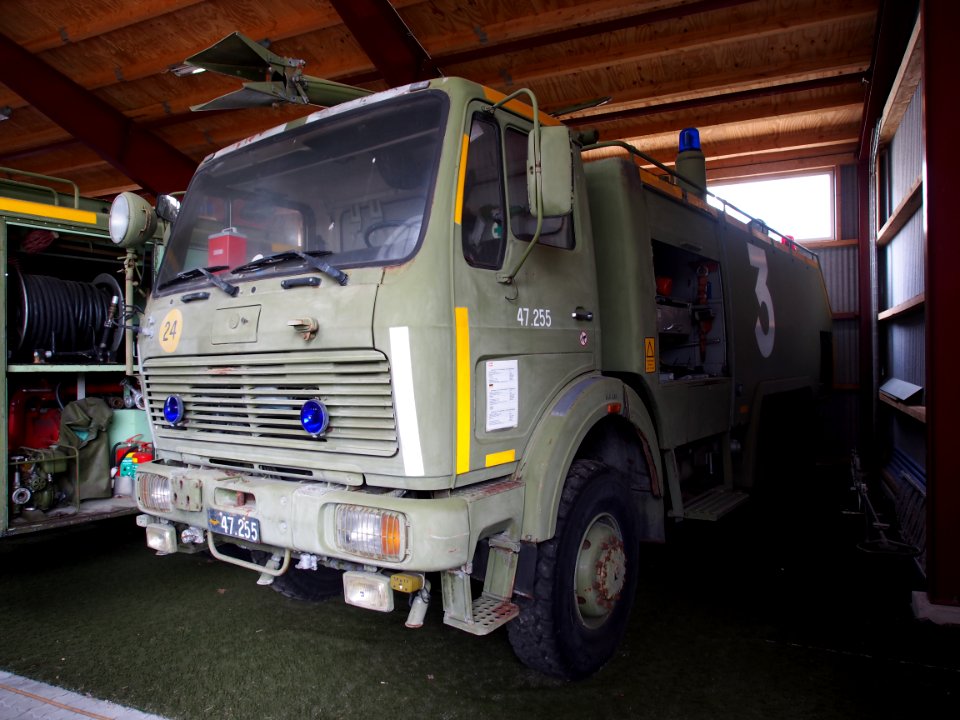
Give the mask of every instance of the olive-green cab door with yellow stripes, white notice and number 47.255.
[[453, 248], [456, 471], [471, 476], [459, 483], [510, 472], [547, 403], [599, 364], [585, 205], [544, 218], [513, 282], [497, 279], [516, 266], [536, 227], [526, 191], [530, 127], [477, 104], [464, 129]]

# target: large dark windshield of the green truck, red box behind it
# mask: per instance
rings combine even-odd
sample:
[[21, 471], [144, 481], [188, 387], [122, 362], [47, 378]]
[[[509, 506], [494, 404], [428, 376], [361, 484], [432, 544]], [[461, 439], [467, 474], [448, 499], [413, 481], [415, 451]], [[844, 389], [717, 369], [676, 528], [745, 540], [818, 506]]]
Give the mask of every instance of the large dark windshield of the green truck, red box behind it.
[[190, 184], [155, 287], [209, 284], [196, 268], [231, 282], [298, 272], [310, 267], [303, 254], [335, 268], [410, 257], [426, 224], [446, 107], [442, 93], [403, 96], [208, 162]]

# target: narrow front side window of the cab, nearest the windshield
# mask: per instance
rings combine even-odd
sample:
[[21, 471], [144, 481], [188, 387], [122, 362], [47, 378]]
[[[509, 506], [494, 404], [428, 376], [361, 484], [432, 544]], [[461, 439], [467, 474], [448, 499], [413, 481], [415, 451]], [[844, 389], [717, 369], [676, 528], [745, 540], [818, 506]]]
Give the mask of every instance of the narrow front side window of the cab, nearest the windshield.
[[474, 267], [500, 268], [506, 250], [500, 128], [480, 114], [474, 115], [470, 126], [462, 217], [466, 261]]

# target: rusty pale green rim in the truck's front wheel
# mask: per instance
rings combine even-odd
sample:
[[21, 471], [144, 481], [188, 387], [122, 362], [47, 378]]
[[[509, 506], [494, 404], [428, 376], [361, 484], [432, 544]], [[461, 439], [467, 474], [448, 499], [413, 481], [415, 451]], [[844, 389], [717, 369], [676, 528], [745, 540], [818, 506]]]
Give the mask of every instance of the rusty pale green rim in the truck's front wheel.
[[574, 574], [574, 601], [580, 622], [597, 628], [613, 613], [627, 578], [620, 525], [609, 513], [597, 515], [580, 539]]

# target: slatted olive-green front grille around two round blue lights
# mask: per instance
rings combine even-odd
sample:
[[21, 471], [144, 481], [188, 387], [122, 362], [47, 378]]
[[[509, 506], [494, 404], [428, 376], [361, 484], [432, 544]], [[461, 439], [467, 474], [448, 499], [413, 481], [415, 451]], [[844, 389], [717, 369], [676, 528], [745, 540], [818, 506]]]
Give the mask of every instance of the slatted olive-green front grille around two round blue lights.
[[[374, 350], [151, 358], [143, 363], [143, 377], [161, 447], [209, 443], [211, 457], [242, 459], [251, 449], [279, 449], [287, 451], [291, 467], [299, 452], [388, 457], [397, 451], [390, 368]], [[163, 417], [169, 395], [184, 403], [177, 427]], [[300, 407], [311, 398], [330, 412], [321, 438], [300, 426]]]

